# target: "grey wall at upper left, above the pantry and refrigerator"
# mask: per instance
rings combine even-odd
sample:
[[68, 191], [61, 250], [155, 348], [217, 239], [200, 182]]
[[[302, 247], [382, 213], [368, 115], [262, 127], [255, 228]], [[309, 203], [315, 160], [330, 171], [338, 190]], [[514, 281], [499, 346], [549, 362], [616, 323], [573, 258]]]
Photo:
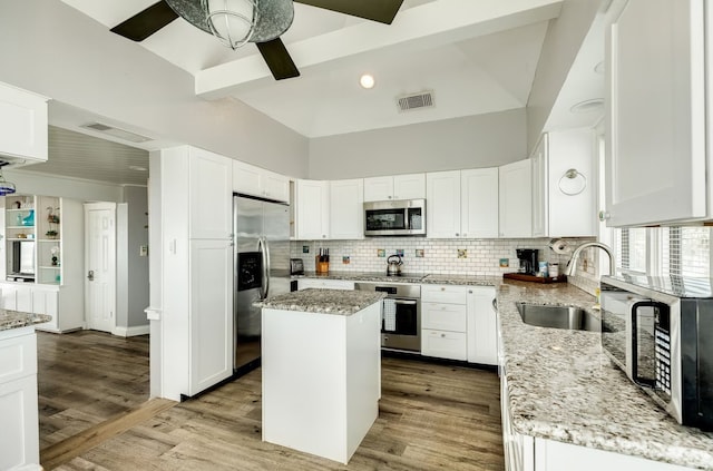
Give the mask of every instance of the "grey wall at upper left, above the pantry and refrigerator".
[[306, 138], [241, 101], [197, 98], [188, 72], [59, 0], [2, 1], [0, 60], [0, 81], [131, 130], [306, 177]]

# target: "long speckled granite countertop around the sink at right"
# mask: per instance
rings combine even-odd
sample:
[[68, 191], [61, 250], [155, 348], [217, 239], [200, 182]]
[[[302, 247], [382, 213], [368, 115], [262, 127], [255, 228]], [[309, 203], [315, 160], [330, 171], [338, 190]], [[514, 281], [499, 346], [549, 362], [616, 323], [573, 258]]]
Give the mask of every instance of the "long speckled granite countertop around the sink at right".
[[595, 300], [567, 284], [506, 281], [499, 287], [504, 363], [517, 432], [713, 470], [713, 434], [678, 425], [660, 409], [609, 361], [598, 333], [527, 325], [516, 301], [590, 310]]

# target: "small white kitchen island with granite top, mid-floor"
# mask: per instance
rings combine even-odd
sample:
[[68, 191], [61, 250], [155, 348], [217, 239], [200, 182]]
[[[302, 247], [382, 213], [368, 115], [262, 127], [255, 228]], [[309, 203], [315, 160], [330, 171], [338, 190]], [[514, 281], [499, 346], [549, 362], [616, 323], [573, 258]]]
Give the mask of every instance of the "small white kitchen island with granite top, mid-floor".
[[379, 414], [383, 297], [304, 290], [257, 303], [264, 441], [349, 462]]

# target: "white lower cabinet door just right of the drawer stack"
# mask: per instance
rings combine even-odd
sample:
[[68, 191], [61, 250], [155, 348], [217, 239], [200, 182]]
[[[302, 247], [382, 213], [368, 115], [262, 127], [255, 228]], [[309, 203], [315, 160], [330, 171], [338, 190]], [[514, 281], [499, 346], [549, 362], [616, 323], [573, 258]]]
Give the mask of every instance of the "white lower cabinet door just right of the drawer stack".
[[498, 364], [497, 312], [492, 305], [495, 288], [468, 288], [468, 361], [486, 365]]

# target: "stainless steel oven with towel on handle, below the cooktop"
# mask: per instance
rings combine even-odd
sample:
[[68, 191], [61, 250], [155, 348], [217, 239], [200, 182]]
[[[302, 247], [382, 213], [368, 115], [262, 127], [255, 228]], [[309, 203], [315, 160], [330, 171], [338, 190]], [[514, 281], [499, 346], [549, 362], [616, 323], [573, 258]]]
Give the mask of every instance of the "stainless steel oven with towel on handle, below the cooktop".
[[420, 285], [360, 282], [355, 288], [387, 293], [381, 320], [382, 349], [421, 352]]

